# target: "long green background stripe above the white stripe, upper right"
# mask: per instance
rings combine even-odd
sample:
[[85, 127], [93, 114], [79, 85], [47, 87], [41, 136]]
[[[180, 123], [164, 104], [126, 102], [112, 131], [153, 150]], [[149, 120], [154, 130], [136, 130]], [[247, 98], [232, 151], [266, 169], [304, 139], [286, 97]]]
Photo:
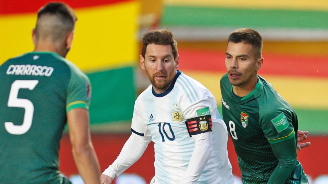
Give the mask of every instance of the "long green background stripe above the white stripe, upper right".
[[163, 26], [327, 29], [328, 11], [165, 6], [161, 24]]

